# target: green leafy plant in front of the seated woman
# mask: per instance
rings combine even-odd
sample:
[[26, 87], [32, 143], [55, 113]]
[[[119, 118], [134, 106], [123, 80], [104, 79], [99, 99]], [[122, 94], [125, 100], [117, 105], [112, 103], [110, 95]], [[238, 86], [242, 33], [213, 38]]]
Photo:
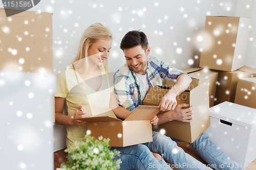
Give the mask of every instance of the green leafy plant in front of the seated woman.
[[121, 159], [114, 160], [115, 156], [119, 156], [120, 152], [117, 150], [110, 150], [110, 139], [99, 139], [84, 136], [86, 141], [76, 141], [77, 147], [74, 149], [66, 149], [69, 153], [68, 161], [61, 164], [61, 168], [67, 170], [115, 170], [120, 168]]

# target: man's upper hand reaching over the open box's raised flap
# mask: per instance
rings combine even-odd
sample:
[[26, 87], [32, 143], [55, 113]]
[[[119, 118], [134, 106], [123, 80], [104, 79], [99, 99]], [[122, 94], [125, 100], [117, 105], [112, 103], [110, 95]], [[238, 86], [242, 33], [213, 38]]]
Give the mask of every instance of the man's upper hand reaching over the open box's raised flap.
[[165, 110], [174, 110], [177, 105], [176, 101], [176, 94], [168, 91], [164, 96], [163, 99], [161, 100], [159, 106], [160, 106], [160, 111], [165, 111]]

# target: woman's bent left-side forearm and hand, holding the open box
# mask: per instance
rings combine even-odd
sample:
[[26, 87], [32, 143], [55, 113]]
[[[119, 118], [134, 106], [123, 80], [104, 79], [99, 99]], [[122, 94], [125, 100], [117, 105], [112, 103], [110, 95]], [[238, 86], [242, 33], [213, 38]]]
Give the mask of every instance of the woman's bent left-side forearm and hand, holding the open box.
[[74, 116], [67, 116], [62, 114], [62, 110], [65, 104], [66, 98], [55, 97], [55, 123], [65, 126], [81, 126], [86, 122], [81, 120], [74, 120], [74, 118], [84, 118], [90, 115], [86, 115], [86, 111], [81, 111], [82, 105], [77, 108]]

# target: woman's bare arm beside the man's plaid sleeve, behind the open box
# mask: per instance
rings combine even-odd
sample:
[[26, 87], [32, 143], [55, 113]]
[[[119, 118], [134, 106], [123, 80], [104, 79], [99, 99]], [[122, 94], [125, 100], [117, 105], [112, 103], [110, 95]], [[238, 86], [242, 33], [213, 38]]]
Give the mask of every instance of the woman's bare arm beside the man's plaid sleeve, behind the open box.
[[132, 113], [131, 111], [126, 110], [125, 108], [123, 108], [117, 104], [116, 95], [115, 95], [114, 90], [110, 93], [110, 108], [113, 110], [115, 115], [121, 119], [125, 119]]

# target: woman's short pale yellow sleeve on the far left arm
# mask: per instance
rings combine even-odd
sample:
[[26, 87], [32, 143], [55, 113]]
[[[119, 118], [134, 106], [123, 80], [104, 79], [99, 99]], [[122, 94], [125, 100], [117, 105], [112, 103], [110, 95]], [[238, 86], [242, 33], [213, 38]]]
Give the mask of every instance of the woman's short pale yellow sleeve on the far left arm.
[[60, 74], [57, 75], [57, 88], [54, 96], [60, 97], [60, 98], [67, 98], [67, 95], [68, 95], [67, 79], [66, 79], [66, 75], [63, 74], [63, 72], [60, 72]]

